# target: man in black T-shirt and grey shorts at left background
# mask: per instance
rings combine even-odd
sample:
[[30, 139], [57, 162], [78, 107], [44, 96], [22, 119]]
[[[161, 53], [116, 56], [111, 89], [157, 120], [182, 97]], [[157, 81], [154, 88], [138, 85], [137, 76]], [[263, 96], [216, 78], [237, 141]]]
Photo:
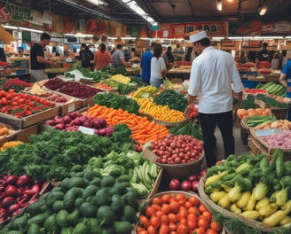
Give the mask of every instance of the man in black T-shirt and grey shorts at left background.
[[34, 43], [30, 49], [30, 77], [32, 82], [49, 79], [49, 76], [45, 73], [47, 64], [52, 67], [58, 66], [57, 63], [44, 58], [44, 49], [50, 41], [51, 35], [43, 33], [41, 40], [38, 43]]

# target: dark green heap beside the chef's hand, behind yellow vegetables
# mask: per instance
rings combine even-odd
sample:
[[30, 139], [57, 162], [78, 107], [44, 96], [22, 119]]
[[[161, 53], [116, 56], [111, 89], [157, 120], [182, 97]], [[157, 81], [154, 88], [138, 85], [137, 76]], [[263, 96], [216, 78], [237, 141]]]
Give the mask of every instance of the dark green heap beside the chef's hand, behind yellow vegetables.
[[153, 98], [156, 105], [168, 105], [169, 109], [177, 110], [182, 113], [188, 105], [187, 98], [175, 90], [163, 90]]

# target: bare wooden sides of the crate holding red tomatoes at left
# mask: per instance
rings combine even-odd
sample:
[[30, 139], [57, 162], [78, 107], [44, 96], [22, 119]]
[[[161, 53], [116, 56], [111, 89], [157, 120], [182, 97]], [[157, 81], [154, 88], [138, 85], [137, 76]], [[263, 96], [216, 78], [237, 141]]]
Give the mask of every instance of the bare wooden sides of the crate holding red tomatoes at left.
[[50, 109], [44, 110], [43, 112], [35, 113], [27, 117], [17, 118], [10, 114], [0, 113], [0, 118], [1, 121], [4, 121], [4, 123], [11, 124], [13, 127], [16, 127], [18, 129], [25, 129], [34, 124], [46, 121], [51, 117], [58, 115], [58, 113], [59, 106], [54, 106]]

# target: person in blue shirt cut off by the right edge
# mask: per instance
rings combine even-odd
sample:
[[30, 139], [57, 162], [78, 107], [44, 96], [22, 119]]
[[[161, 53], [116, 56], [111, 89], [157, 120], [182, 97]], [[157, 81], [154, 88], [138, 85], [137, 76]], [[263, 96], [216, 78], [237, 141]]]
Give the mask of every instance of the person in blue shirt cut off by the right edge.
[[[279, 83], [287, 88], [286, 97], [291, 98], [291, 51], [287, 51], [287, 62], [283, 66], [281, 74], [279, 75]], [[287, 115], [288, 121], [291, 121], [291, 105], [289, 104], [289, 110]]]

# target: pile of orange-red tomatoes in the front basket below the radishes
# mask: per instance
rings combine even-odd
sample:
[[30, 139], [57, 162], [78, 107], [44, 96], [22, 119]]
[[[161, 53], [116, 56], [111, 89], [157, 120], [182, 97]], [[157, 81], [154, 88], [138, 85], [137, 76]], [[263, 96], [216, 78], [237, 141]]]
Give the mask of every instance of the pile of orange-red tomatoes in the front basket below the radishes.
[[136, 227], [137, 234], [218, 234], [221, 230], [197, 197], [182, 192], [154, 197]]

